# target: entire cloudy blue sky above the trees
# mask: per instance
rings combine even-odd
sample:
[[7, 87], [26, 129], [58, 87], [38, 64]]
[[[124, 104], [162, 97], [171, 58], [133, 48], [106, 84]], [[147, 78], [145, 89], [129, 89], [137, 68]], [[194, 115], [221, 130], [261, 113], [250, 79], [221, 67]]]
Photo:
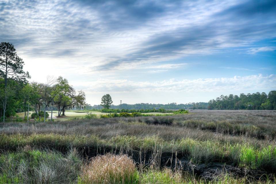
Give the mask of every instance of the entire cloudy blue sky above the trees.
[[208, 102], [276, 90], [276, 1], [3, 1], [0, 42], [30, 81], [100, 104]]

